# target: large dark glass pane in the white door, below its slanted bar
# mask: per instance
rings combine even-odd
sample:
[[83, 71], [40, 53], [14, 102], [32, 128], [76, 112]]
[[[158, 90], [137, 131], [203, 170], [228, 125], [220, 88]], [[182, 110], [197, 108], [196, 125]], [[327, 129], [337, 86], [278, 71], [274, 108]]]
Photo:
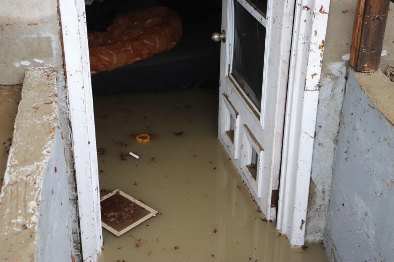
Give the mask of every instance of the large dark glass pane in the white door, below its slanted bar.
[[266, 29], [238, 1], [234, 1], [234, 12], [234, 54], [231, 74], [260, 108]]

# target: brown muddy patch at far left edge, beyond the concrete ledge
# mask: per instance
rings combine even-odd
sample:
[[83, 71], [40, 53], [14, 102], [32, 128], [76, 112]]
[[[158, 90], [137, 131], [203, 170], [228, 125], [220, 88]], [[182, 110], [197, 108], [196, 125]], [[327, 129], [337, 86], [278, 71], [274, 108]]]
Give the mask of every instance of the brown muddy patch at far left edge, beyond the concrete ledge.
[[6, 171], [22, 85], [0, 85], [0, 188]]

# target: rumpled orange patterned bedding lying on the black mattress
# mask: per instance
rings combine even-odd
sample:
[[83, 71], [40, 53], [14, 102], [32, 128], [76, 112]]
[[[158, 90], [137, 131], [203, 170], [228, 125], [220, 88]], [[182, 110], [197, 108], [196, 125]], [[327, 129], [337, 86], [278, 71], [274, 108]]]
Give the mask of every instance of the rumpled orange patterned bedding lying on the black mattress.
[[88, 34], [90, 72], [113, 70], [167, 51], [181, 35], [180, 16], [166, 7], [118, 14], [105, 32]]

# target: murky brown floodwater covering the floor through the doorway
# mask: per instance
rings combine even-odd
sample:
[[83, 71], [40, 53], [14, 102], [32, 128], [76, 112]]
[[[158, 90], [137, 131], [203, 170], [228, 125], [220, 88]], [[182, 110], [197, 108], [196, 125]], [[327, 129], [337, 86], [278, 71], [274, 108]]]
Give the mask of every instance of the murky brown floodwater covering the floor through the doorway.
[[[121, 237], [103, 229], [102, 262], [327, 261], [321, 244], [290, 248], [257, 211], [217, 139], [216, 89], [97, 96], [94, 110], [102, 194], [160, 212]], [[142, 133], [153, 139], [139, 144]]]

